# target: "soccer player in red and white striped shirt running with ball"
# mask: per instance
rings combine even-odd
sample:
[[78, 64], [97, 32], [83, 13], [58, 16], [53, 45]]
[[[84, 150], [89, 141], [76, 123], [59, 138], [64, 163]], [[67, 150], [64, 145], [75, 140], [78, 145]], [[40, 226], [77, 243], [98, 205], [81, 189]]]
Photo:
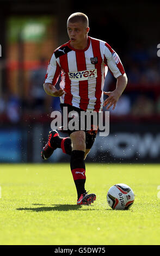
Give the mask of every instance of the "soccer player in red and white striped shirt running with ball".
[[[60, 97], [60, 106], [67, 107], [68, 113], [76, 111], [100, 112], [116, 106], [127, 84], [127, 76], [118, 54], [99, 39], [88, 36], [88, 17], [83, 13], [73, 13], [67, 20], [70, 41], [58, 47], [50, 59], [45, 77], [44, 90], [48, 95]], [[107, 33], [107, 28], [104, 33]], [[103, 102], [105, 67], [117, 79], [113, 92], [104, 92], [108, 98]], [[55, 85], [61, 71], [60, 89]], [[69, 119], [68, 119], [69, 120]], [[56, 130], [49, 133], [48, 142], [42, 149], [42, 159], [48, 159], [57, 148], [69, 154], [70, 167], [77, 189], [77, 204], [89, 205], [96, 195], [85, 190], [85, 157], [96, 137], [97, 129], [68, 130], [70, 137], [60, 137]]]

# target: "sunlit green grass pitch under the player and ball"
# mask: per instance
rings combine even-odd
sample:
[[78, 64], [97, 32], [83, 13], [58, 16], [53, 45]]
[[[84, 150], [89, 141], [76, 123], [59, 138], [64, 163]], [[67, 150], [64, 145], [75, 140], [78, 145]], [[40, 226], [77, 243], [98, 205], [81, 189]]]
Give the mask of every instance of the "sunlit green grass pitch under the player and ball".
[[[159, 245], [160, 164], [86, 164], [97, 199], [76, 205], [69, 163], [1, 164], [1, 245]], [[109, 208], [110, 186], [136, 194], [130, 210]]]

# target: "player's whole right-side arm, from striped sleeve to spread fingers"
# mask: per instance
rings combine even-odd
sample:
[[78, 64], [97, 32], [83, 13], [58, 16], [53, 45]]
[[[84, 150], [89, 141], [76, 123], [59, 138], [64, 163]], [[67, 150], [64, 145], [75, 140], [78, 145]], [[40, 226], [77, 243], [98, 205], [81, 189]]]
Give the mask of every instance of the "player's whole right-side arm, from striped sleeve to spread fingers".
[[105, 95], [108, 95], [108, 98], [104, 101], [103, 106], [108, 105], [107, 109], [109, 109], [113, 105], [114, 109], [116, 102], [127, 86], [127, 76], [118, 54], [107, 43], [104, 47], [104, 63], [108, 66], [117, 82], [116, 89], [113, 92], [104, 92]]

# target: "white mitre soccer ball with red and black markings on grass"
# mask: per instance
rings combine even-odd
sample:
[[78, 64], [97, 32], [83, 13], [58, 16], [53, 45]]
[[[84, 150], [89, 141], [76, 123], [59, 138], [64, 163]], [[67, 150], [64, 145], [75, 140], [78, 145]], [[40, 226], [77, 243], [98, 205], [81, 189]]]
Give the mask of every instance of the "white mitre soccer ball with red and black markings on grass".
[[126, 184], [116, 184], [109, 188], [107, 202], [113, 210], [128, 210], [134, 202], [134, 193]]

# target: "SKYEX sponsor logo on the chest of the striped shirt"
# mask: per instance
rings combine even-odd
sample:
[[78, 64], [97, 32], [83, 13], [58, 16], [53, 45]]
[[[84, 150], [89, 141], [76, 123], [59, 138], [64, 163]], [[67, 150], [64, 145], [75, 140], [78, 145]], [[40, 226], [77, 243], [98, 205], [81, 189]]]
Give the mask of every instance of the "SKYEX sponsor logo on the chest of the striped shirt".
[[90, 80], [97, 77], [97, 69], [69, 72], [69, 78], [73, 81]]

